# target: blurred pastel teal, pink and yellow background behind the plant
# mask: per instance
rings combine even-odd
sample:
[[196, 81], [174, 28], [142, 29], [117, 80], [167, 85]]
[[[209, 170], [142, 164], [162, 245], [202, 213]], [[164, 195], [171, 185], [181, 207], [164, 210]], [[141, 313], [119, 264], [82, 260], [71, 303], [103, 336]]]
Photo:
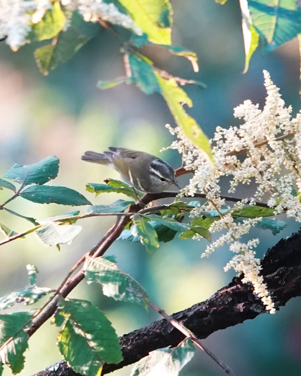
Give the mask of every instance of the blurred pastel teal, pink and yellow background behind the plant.
[[[153, 49], [156, 65], [171, 74], [195, 79], [208, 85], [206, 90], [186, 86], [194, 107], [189, 114], [196, 118], [211, 137], [216, 126], [237, 123], [233, 108], [243, 100], [264, 105], [263, 69], [281, 88], [293, 114], [300, 110], [298, 42], [292, 40], [273, 53], [256, 52], [248, 73], [244, 68], [241, 15], [237, 1], [220, 6], [213, 1], [171, 1], [174, 8], [173, 44], [195, 51], [200, 72], [194, 74], [184, 58]], [[14, 163], [29, 164], [49, 155], [60, 158], [60, 171], [53, 185], [64, 185], [83, 193], [93, 204], [105, 204], [123, 198], [101, 194], [95, 198], [85, 191], [87, 182], [118, 178], [115, 171], [81, 161], [85, 150], [103, 151], [108, 146], [121, 146], [160, 155], [174, 168], [180, 165], [176, 151], [159, 153], [172, 136], [165, 124], [174, 125], [166, 103], [159, 94], [146, 96], [133, 85], [121, 85], [101, 91], [98, 80], [124, 75], [118, 41], [106, 30], [85, 45], [67, 64], [44, 77], [35, 64], [35, 45], [25, 45], [13, 53], [0, 43], [0, 176]], [[187, 177], [179, 179], [184, 185]], [[226, 190], [225, 190], [226, 193]], [[245, 197], [246, 187], [237, 195]], [[9, 191], [0, 191], [0, 202]], [[41, 220], [63, 214], [74, 208], [60, 205], [38, 205], [16, 199], [8, 206], [23, 215]], [[85, 208], [81, 208], [84, 212]], [[283, 218], [281, 218], [283, 219]], [[56, 288], [72, 265], [89, 250], [112, 225], [113, 218], [89, 218], [81, 221], [83, 231], [72, 245], [45, 247], [35, 235], [2, 246], [1, 296], [27, 283], [25, 265], [37, 266], [38, 284]], [[0, 212], [0, 222], [17, 232], [31, 228], [29, 222]], [[293, 221], [280, 234], [254, 230], [260, 238], [257, 248], [262, 257], [268, 247], [299, 228]], [[219, 249], [208, 259], [200, 254], [205, 241], [177, 240], [162, 244], [154, 255], [148, 255], [140, 244], [116, 241], [108, 250], [117, 256], [119, 267], [141, 283], [153, 301], [173, 313], [207, 299], [226, 285], [233, 273], [224, 273], [230, 258], [228, 249]], [[125, 334], [159, 319], [136, 305], [115, 302], [101, 294], [100, 286], [81, 283], [71, 297], [89, 299], [105, 311], [118, 335]], [[212, 334], [203, 343], [235, 374], [244, 376], [299, 375], [301, 367], [301, 300], [294, 299], [275, 315], [261, 315], [255, 320]], [[18, 305], [14, 310], [24, 310]], [[26, 309], [26, 308], [25, 308]], [[61, 359], [55, 345], [57, 328], [50, 323], [29, 340], [22, 376], [31, 375]], [[193, 361], [183, 368], [182, 376], [221, 375], [208, 356], [196, 351]], [[130, 374], [131, 366], [115, 375]], [[11, 374], [6, 369], [5, 375]]]

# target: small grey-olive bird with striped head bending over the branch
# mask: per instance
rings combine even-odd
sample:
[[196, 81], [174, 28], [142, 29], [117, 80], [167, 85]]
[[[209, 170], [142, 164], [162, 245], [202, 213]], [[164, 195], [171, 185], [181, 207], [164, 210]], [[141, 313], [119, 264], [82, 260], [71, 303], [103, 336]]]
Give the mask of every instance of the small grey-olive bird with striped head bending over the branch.
[[117, 170], [135, 189], [148, 193], [161, 193], [168, 185], [180, 189], [174, 169], [154, 155], [135, 150], [109, 147], [109, 152], [85, 152], [83, 161], [99, 163]]

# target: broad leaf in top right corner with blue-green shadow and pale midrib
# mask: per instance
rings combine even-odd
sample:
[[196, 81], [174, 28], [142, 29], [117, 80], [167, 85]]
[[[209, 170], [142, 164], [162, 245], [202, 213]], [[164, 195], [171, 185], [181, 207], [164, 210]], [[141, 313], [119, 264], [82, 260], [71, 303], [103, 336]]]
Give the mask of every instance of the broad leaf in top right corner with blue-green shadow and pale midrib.
[[294, 38], [301, 30], [301, 9], [296, 0], [248, 0], [248, 7], [265, 52]]

